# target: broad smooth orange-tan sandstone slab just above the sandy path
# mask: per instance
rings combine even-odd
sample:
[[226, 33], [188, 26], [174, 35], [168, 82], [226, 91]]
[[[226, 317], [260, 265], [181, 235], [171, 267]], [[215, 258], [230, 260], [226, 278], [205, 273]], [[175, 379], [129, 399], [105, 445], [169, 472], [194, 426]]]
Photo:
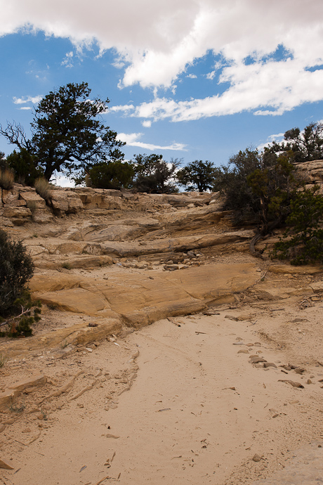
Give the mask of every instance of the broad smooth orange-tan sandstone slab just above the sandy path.
[[[31, 280], [34, 296], [47, 304], [90, 316], [123, 318], [130, 326], [141, 327], [165, 318], [204, 311], [206, 306], [222, 302], [232, 292], [239, 292], [254, 283], [256, 271], [253, 264], [219, 264], [185, 270], [185, 278], [178, 271], [150, 271], [150, 278], [122, 275], [109, 280], [79, 280], [79, 287], [57, 292], [41, 291], [43, 277]], [[151, 279], [153, 278], [153, 279]], [[48, 280], [52, 277], [48, 276]], [[73, 279], [77, 285], [77, 280]], [[67, 282], [67, 285], [70, 283]]]

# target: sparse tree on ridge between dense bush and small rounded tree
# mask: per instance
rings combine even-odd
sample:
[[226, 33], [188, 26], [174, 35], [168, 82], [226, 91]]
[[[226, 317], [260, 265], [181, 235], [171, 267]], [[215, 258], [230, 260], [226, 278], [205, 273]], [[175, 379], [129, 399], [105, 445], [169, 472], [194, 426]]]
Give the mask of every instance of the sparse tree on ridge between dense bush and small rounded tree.
[[162, 155], [133, 155], [132, 162], [135, 170], [133, 187], [139, 192], [147, 193], [176, 193], [178, 188], [174, 182], [176, 170], [180, 160], [171, 159], [171, 162], [163, 160]]

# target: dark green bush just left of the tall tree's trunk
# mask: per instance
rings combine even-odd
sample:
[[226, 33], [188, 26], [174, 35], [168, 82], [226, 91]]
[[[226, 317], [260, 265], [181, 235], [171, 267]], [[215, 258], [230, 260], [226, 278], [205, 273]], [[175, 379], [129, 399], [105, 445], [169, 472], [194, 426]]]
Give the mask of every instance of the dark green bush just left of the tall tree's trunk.
[[42, 174], [36, 157], [26, 148], [21, 148], [19, 152], [13, 150], [7, 157], [7, 164], [15, 174], [15, 181], [22, 185], [34, 185], [34, 181]]

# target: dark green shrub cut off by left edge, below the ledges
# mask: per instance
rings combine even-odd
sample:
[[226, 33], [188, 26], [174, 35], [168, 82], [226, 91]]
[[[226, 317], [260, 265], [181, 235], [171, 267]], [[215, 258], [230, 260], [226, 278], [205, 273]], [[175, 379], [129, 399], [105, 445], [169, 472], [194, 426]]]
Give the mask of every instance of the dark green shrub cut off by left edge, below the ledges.
[[32, 302], [27, 283], [34, 273], [32, 258], [21, 241], [9, 240], [0, 229], [0, 327], [9, 335], [31, 335], [30, 325], [39, 320], [40, 304]]

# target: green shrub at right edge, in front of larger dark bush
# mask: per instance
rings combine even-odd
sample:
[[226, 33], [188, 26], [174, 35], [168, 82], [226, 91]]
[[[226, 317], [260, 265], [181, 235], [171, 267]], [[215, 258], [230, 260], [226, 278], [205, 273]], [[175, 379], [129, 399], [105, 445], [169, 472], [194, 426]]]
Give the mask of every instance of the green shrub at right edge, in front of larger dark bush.
[[298, 192], [291, 200], [291, 213], [286, 223], [291, 226], [279, 243], [273, 257], [290, 259], [291, 264], [319, 261], [323, 264], [323, 196], [318, 187]]

